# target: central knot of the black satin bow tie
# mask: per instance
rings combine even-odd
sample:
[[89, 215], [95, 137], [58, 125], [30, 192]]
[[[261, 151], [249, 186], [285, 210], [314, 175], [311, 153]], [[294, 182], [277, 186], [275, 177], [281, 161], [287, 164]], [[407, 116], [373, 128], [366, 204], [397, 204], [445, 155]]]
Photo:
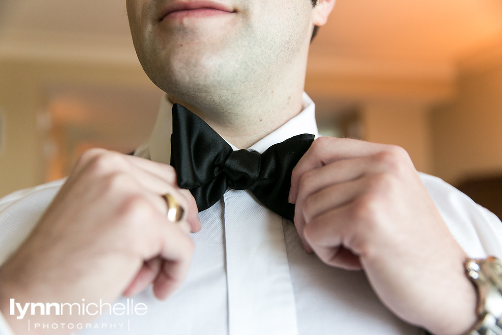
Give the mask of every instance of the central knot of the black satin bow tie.
[[262, 155], [256, 151], [245, 149], [232, 151], [223, 167], [228, 187], [243, 190], [253, 185], [260, 175], [261, 157]]

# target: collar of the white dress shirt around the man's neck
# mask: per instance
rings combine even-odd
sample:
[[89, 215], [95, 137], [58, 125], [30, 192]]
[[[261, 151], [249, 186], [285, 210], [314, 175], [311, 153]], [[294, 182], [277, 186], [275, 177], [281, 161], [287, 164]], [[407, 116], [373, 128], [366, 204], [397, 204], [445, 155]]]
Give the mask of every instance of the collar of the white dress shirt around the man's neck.
[[[171, 161], [171, 134], [173, 132], [172, 108], [173, 104], [167, 95], [164, 95], [161, 99], [159, 115], [152, 135], [135, 151], [135, 156], [169, 164]], [[270, 146], [299, 134], [313, 134], [316, 138], [319, 136], [315, 122], [315, 104], [305, 92], [303, 93], [303, 110], [277, 130], [250, 146], [249, 149], [263, 153]], [[229, 144], [234, 150], [237, 149], [231, 143]]]

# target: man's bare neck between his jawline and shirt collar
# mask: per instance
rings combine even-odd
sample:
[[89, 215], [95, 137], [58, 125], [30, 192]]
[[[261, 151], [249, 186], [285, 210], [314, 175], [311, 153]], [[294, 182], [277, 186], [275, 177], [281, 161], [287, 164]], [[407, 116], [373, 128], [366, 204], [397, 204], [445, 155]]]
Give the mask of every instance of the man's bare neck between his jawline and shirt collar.
[[[247, 149], [272, 133], [303, 109], [303, 91], [307, 53], [298, 55], [273, 76], [234, 85], [231, 89], [215, 89], [197, 101], [187, 102], [169, 94], [169, 100], [188, 108], [204, 120], [222, 138]], [[214, 99], [213, 97], [219, 99]]]

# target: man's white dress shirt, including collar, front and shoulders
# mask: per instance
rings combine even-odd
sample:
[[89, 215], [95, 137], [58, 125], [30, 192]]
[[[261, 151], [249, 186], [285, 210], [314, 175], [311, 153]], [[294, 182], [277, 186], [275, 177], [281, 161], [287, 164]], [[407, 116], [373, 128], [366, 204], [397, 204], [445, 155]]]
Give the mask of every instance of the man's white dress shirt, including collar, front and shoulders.
[[[135, 155], [169, 163], [171, 107], [163, 98], [152, 136]], [[314, 109], [304, 94], [303, 111], [250, 149], [262, 153], [303, 133], [317, 137]], [[469, 256], [502, 257], [502, 224], [494, 214], [438, 178], [425, 174], [421, 178]], [[26, 238], [62, 183], [51, 182], [0, 200], [0, 264]], [[192, 234], [196, 248], [188, 277], [172, 296], [159, 301], [147, 289], [133, 298], [135, 304], [148, 306], [146, 315], [104, 314], [83, 325], [90, 329], [78, 333], [422, 333], [379, 301], [364, 272], [329, 267], [307, 254], [294, 225], [249, 191], [228, 189], [199, 216], [202, 229]], [[119, 301], [127, 303], [126, 298]], [[5, 321], [0, 321], [3, 334], [7, 330], [2, 327], [6, 328]]]

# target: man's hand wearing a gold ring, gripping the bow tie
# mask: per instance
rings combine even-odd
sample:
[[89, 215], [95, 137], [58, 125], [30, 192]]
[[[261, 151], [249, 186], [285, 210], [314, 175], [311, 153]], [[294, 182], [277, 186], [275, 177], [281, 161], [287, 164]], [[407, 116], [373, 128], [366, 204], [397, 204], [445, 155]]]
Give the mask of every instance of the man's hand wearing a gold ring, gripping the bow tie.
[[[185, 209], [180, 222], [167, 219], [165, 193]], [[0, 308], [9, 316], [10, 298], [22, 305], [112, 302], [151, 283], [164, 299], [184, 280], [194, 248], [189, 233], [199, 230], [195, 200], [178, 188], [171, 166], [90, 150], [0, 268]], [[9, 320], [16, 333], [27, 331], [14, 317]]]

